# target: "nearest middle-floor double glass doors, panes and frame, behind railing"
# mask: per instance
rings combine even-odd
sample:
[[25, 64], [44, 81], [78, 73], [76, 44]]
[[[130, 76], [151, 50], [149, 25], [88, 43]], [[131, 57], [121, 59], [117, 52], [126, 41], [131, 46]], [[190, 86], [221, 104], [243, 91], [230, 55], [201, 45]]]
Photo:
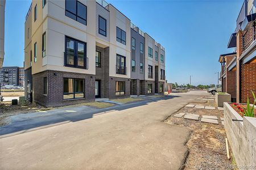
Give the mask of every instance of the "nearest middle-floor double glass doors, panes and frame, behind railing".
[[65, 66], [87, 69], [86, 43], [66, 37]]

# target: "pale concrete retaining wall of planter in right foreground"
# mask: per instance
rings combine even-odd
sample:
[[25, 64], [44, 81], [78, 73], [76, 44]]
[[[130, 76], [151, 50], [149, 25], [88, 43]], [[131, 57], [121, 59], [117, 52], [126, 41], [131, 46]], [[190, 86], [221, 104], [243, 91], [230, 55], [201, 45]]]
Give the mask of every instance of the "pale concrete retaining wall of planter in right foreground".
[[224, 103], [224, 126], [238, 169], [256, 169], [256, 118], [241, 117]]

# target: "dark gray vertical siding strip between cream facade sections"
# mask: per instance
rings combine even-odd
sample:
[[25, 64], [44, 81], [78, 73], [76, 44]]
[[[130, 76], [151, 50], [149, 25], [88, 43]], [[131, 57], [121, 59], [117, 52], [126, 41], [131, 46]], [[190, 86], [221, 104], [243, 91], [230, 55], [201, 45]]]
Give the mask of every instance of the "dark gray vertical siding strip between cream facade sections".
[[[143, 63], [144, 66], [144, 53], [145, 53], [145, 39], [143, 36], [139, 35], [138, 32], [131, 29], [131, 37], [135, 39], [135, 50], [131, 49], [131, 59], [135, 60], [135, 72], [131, 71], [131, 79], [144, 79], [145, 69], [143, 73], [140, 71], [140, 63]], [[144, 45], [144, 53], [141, 54], [141, 42]], [[145, 66], [144, 66], [145, 67]]]

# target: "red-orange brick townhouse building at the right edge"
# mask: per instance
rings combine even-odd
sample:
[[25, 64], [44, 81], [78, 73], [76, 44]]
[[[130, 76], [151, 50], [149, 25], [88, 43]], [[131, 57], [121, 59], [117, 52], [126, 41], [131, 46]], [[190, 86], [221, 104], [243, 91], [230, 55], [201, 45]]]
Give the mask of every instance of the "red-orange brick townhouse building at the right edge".
[[[230, 36], [228, 48], [234, 48], [234, 53], [220, 57], [219, 61], [225, 66], [222, 72], [225, 88], [239, 103], [246, 103], [247, 97], [253, 103], [256, 94], [256, 1], [245, 0], [237, 18], [237, 27]], [[236, 89], [236, 90], [234, 90]]]

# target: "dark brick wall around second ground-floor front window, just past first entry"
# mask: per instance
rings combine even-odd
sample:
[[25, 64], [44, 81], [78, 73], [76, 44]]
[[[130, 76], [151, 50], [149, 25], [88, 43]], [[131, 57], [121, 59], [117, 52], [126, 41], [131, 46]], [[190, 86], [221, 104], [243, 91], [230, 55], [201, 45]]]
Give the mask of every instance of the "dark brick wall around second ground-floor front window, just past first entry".
[[[125, 82], [125, 95], [115, 95], [115, 82]], [[125, 98], [130, 97], [131, 80], [127, 78], [119, 78], [110, 76], [109, 77], [109, 99]]]

